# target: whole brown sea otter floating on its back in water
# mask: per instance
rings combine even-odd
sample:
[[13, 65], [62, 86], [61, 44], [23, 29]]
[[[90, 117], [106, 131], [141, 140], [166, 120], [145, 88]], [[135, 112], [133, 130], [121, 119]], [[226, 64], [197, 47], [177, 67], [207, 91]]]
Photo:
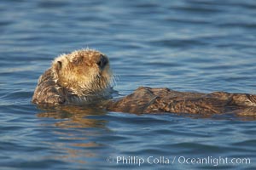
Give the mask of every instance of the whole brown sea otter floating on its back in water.
[[256, 95], [212, 94], [141, 87], [121, 99], [111, 99], [113, 74], [107, 55], [92, 49], [61, 54], [39, 77], [32, 103], [40, 106], [97, 104], [108, 111], [130, 113], [235, 113], [256, 116]]

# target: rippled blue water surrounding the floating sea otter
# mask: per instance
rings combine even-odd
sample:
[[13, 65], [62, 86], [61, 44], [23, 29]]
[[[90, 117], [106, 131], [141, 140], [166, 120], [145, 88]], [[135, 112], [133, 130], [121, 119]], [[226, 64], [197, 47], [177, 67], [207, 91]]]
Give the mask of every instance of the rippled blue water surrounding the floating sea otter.
[[255, 0], [2, 0], [0, 16], [0, 169], [256, 168], [253, 117], [45, 111], [30, 102], [52, 59], [86, 47], [108, 55], [120, 94], [139, 86], [256, 94]]

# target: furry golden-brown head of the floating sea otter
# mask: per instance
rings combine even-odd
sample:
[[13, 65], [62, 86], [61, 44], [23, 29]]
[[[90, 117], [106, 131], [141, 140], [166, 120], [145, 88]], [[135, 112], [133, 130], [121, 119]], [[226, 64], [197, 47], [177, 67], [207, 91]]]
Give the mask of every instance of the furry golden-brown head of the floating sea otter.
[[61, 54], [51, 67], [55, 82], [71, 94], [83, 96], [109, 95], [112, 82], [108, 57], [99, 51], [82, 49]]

